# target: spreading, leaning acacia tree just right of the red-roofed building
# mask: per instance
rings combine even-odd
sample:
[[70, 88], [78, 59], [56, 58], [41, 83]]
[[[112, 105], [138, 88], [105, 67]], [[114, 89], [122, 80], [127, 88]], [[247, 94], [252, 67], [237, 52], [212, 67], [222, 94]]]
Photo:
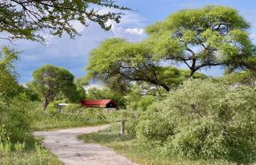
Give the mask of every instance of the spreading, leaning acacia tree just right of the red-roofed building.
[[[186, 70], [163, 67], [162, 61], [153, 55], [147, 45], [119, 38], [107, 39], [90, 53], [87, 78], [103, 81], [116, 91], [127, 92], [134, 81], [170, 91], [172, 85], [189, 77]], [[202, 77], [202, 74], [194, 77]]]

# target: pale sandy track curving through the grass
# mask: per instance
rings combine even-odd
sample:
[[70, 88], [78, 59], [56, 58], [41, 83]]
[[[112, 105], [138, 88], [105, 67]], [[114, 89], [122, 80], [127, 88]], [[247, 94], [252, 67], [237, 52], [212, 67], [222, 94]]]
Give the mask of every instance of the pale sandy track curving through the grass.
[[43, 145], [57, 155], [65, 165], [138, 165], [108, 147], [96, 143], [83, 143], [77, 136], [84, 133], [98, 132], [109, 125], [71, 128], [57, 131], [35, 132], [43, 136]]

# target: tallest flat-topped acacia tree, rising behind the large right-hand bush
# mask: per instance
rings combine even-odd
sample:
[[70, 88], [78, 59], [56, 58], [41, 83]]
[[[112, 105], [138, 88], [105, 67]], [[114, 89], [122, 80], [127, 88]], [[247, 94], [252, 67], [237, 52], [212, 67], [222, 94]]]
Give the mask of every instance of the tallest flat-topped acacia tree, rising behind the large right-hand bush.
[[154, 48], [154, 57], [182, 62], [190, 69], [190, 76], [218, 65], [229, 72], [256, 70], [255, 46], [246, 31], [249, 28], [237, 10], [206, 6], [180, 10], [147, 27], [147, 43]]

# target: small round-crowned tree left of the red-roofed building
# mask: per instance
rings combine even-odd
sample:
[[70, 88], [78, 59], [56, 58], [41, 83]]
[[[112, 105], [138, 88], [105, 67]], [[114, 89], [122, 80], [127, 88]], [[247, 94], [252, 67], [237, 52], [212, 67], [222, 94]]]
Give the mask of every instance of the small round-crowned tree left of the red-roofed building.
[[50, 101], [60, 94], [72, 101], [75, 101], [76, 96], [79, 96], [76, 95], [77, 88], [74, 84], [74, 76], [66, 69], [54, 65], [43, 65], [34, 71], [33, 77], [32, 84], [43, 97], [43, 110], [46, 110]]

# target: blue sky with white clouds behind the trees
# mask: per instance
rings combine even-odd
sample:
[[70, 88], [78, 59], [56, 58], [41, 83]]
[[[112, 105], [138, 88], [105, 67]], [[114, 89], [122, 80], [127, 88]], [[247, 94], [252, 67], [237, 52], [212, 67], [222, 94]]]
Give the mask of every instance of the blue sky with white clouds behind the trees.
[[[119, 5], [127, 6], [134, 11], [125, 12], [121, 23], [114, 24], [110, 31], [104, 31], [97, 24], [83, 27], [74, 23], [81, 36], [70, 39], [67, 35], [62, 38], [46, 37], [46, 45], [35, 41], [0, 41], [1, 45], [21, 51], [18, 61], [19, 82], [32, 81], [32, 73], [45, 64], [53, 64], [69, 69], [75, 77], [86, 75], [90, 51], [101, 41], [110, 37], [123, 37], [128, 41], [142, 41], [146, 38], [145, 27], [165, 19], [182, 9], [200, 8], [206, 5], [231, 6], [238, 10], [250, 22], [250, 37], [256, 40], [256, 1], [254, 0], [116, 0]], [[255, 41], [254, 41], [255, 42]], [[203, 69], [202, 73], [210, 76], [221, 76], [222, 69]]]

